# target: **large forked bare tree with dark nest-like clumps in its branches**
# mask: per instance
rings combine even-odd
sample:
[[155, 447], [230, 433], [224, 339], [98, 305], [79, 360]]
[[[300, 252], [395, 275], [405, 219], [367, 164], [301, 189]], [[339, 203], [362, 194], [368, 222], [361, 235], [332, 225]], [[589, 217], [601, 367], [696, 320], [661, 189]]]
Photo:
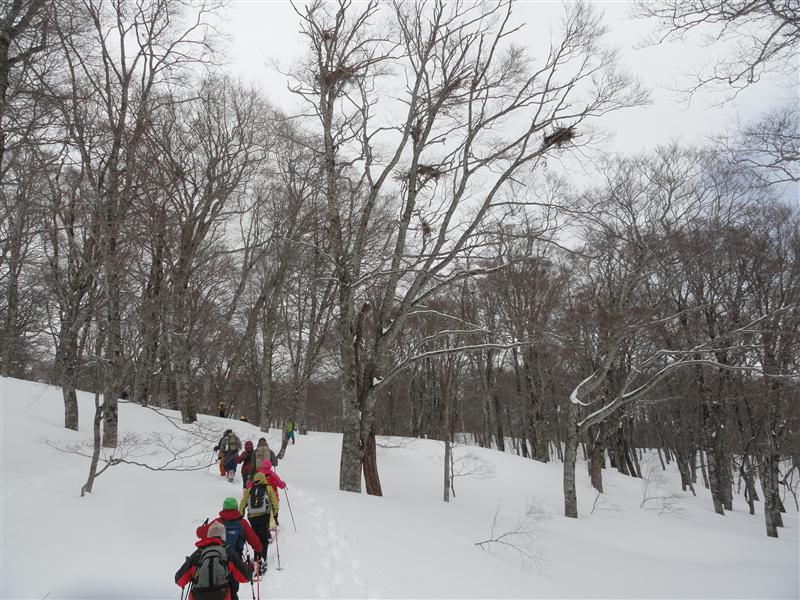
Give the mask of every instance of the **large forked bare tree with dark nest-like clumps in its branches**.
[[[466, 268], [464, 259], [480, 254], [501, 214], [511, 218], [505, 194], [515, 177], [568, 145], [585, 120], [645, 96], [602, 47], [604, 28], [586, 5], [568, 11], [536, 68], [523, 50], [505, 47], [508, 3], [397, 4], [387, 33], [373, 26], [376, 3], [317, 3], [298, 13], [309, 56], [293, 89], [324, 141], [338, 284], [339, 485], [360, 491], [377, 392], [414, 362], [389, 363], [410, 315], [438, 290], [498, 268]], [[403, 116], [386, 124], [375, 92], [393, 65], [406, 73]], [[379, 153], [379, 144], [391, 150]], [[478, 180], [484, 191], [476, 197]], [[394, 205], [390, 190], [400, 199]], [[378, 218], [390, 227], [375, 243]], [[378, 285], [373, 305], [362, 288]], [[380, 494], [377, 470], [364, 474], [367, 491]]]

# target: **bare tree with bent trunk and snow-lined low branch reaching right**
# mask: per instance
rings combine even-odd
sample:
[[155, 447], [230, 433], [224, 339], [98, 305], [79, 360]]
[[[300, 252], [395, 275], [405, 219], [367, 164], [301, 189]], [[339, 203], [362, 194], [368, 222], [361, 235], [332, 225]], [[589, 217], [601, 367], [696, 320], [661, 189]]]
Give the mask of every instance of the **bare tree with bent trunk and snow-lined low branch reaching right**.
[[[684, 346], [685, 351], [694, 350], [687, 354], [680, 346], [655, 347], [643, 335], [648, 328], [679, 320], [682, 313], [655, 312], [652, 302], [642, 302], [642, 298], [651, 285], [651, 272], [670, 256], [670, 237], [697, 219], [713, 197], [713, 185], [703, 183], [707, 166], [696, 153], [664, 148], [652, 158], [622, 160], [616, 168], [606, 169], [605, 191], [590, 192], [586, 198], [591, 207], [585, 214], [588, 244], [579, 269], [592, 317], [586, 325], [588, 335], [578, 334], [575, 342], [586, 340], [582, 351], [591, 357], [587, 364], [592, 373], [575, 386], [567, 403], [564, 493], [568, 517], [577, 517], [578, 436], [641, 399], [690, 357], [700, 364], [715, 362], [707, 352], [717, 340]], [[573, 310], [582, 308], [576, 305]], [[587, 323], [584, 319], [575, 322]], [[579, 418], [579, 407], [589, 406], [592, 410]]]

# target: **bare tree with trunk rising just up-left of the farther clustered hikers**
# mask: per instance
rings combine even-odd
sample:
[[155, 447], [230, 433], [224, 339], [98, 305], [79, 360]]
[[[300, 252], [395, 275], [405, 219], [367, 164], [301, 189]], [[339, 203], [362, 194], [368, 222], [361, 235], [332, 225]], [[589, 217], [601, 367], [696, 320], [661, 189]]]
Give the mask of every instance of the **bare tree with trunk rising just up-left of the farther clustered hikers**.
[[269, 114], [254, 91], [224, 79], [205, 81], [196, 97], [171, 98], [155, 113], [159, 124], [148, 133], [161, 166], [157, 173], [167, 202], [165, 217], [177, 239], [175, 264], [167, 273], [171, 318], [166, 342], [185, 423], [197, 420], [189, 388], [192, 281], [207, 245], [222, 235], [237, 208], [235, 195], [265, 162]]

